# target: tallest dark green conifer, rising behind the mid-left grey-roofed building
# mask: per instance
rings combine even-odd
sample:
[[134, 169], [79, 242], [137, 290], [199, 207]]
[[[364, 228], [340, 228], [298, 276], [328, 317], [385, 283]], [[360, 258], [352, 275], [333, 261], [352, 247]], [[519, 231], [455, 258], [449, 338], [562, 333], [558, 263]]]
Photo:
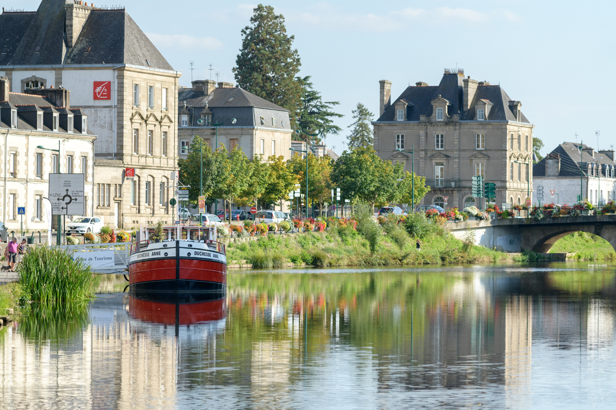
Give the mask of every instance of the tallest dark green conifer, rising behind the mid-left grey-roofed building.
[[241, 30], [240, 53], [233, 74], [241, 88], [290, 111], [292, 126], [299, 109], [302, 89], [296, 76], [301, 62], [291, 47], [295, 36], [288, 36], [285, 17], [272, 6], [254, 8], [251, 25]]

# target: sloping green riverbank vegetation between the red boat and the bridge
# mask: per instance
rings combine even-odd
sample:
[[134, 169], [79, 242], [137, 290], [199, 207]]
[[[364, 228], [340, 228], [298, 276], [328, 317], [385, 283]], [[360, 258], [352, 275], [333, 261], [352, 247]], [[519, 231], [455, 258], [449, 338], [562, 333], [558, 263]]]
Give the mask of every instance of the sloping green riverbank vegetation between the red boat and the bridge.
[[[423, 213], [405, 217], [390, 214], [379, 219], [373, 218], [370, 205], [357, 205], [354, 219], [330, 219], [323, 232], [264, 235], [251, 242], [230, 242], [227, 259], [246, 260], [256, 268], [287, 263], [325, 267], [514, 261], [511, 254], [474, 245], [474, 238], [455, 239], [445, 223], [428, 219]], [[418, 240], [421, 251], [416, 249]], [[515, 260], [528, 258], [517, 255]]]

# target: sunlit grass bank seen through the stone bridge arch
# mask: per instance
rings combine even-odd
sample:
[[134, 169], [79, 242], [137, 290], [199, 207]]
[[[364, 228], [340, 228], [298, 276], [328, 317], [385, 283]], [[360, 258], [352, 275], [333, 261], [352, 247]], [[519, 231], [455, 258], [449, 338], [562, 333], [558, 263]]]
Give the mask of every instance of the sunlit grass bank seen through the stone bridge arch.
[[575, 252], [578, 261], [616, 260], [614, 248], [607, 240], [588, 232], [573, 232], [559, 239], [549, 253]]

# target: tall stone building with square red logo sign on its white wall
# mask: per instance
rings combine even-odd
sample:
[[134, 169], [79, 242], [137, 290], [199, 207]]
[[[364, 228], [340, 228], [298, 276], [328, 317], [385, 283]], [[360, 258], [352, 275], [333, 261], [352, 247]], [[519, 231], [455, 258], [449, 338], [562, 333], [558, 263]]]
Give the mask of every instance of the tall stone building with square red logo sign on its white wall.
[[[36, 12], [0, 15], [0, 76], [13, 92], [68, 89], [88, 117], [95, 146], [94, 215], [129, 228], [171, 221], [169, 178], [177, 170], [177, 81], [121, 9], [43, 0]], [[134, 179], [125, 178], [134, 168]]]

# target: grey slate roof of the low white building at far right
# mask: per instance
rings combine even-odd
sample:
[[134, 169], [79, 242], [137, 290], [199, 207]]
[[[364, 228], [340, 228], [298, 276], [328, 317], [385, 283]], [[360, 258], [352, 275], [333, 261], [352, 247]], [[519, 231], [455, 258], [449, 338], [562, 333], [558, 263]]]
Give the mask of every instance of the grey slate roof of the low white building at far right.
[[[582, 155], [578, 147], [582, 145]], [[586, 144], [564, 142], [559, 144], [552, 152], [545, 158], [540, 160], [537, 164], [533, 165], [533, 177], [546, 176], [546, 160], [551, 158], [560, 159], [560, 168], [558, 176], [580, 176], [580, 167], [583, 162], [583, 175], [588, 175], [588, 164], [601, 164], [603, 169], [616, 168], [616, 162], [612, 160], [607, 153], [612, 151], [598, 151], [594, 152], [594, 156], [590, 154], [590, 148]], [[612, 156], [613, 156], [612, 152]], [[596, 166], [596, 165], [595, 165]]]

